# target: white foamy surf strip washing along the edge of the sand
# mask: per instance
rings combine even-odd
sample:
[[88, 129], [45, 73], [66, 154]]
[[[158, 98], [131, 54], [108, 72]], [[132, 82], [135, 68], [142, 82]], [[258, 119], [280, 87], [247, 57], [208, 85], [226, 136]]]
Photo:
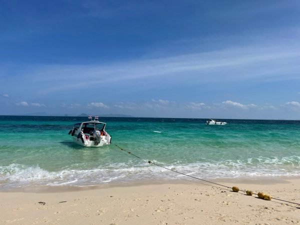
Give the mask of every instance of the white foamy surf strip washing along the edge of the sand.
[[[233, 178], [233, 177], [267, 177], [267, 176], [299, 176], [300, 157], [283, 158], [248, 158], [245, 160], [221, 160], [209, 162], [180, 163], [179, 161], [165, 166], [199, 178]], [[132, 161], [130, 161], [130, 164]], [[10, 164], [0, 166], [0, 189], [8, 187], [32, 185], [96, 185], [108, 182], [129, 182], [142, 179], [174, 179], [183, 175], [168, 169], [149, 164], [146, 160], [136, 165], [127, 163], [111, 163], [105, 167], [89, 169], [62, 169], [48, 171], [38, 165], [26, 166]]]

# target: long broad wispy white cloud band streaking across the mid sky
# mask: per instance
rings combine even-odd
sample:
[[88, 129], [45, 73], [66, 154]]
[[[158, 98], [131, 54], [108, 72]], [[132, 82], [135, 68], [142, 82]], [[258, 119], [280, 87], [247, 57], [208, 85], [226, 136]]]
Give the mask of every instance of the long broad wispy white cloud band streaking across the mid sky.
[[[296, 50], [297, 49], [297, 50]], [[26, 68], [23, 79], [46, 84], [39, 93], [72, 88], [121, 85], [124, 81], [151, 80], [161, 82], [228, 83], [258, 79], [260, 82], [299, 78], [300, 47], [261, 47], [260, 45], [226, 48], [210, 52], [177, 54], [155, 59], [88, 65], [34, 65]], [[55, 74], [55, 75], [53, 75]], [[84, 74], [84, 76], [82, 76]], [[278, 76], [278, 74], [285, 74]], [[99, 77], [105, 77], [105, 82]], [[184, 77], [184, 79], [183, 79]], [[59, 82], [57, 82], [57, 79]], [[22, 80], [20, 80], [23, 82]], [[133, 86], [134, 82], [130, 85]], [[40, 86], [43, 86], [40, 85]]]

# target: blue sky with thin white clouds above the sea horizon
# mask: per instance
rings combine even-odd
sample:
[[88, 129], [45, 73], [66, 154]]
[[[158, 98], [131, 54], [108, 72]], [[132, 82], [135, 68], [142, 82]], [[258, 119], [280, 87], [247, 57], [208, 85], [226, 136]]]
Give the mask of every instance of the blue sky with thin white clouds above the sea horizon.
[[0, 0], [0, 114], [300, 119], [298, 0]]

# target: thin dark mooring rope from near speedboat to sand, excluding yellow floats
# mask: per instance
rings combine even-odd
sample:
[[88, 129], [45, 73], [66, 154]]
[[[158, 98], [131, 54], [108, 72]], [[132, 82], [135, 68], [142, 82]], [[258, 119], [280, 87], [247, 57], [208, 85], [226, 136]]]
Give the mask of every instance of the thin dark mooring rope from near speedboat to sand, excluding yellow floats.
[[[124, 149], [124, 148], [118, 146], [117, 144], [114, 144], [114, 145], [117, 146], [120, 150], [126, 151], [128, 154], [131, 154], [131, 155], [133, 155], [134, 157], [137, 157], [137, 158], [139, 158], [139, 159], [145, 160], [145, 159], [143, 159], [143, 158], [137, 156], [136, 154], [133, 154], [131, 151], [128, 151], [128, 150], [126, 150], [126, 149]], [[145, 160], [145, 161], [146, 161], [146, 160]], [[191, 175], [185, 174], [185, 173], [183, 173], [183, 172], [178, 172], [178, 171], [176, 171], [176, 170], [173, 170], [173, 169], [167, 168], [167, 167], [165, 167], [165, 166], [159, 165], [159, 164], [157, 164], [157, 163], [155, 163], [155, 162], [153, 162], [153, 161], [150, 161], [150, 160], [148, 160], [148, 163], [149, 163], [149, 164], [156, 165], [156, 166], [159, 166], [159, 167], [161, 167], [161, 168], [167, 169], [167, 170], [172, 171], [172, 172], [179, 173], [179, 174], [181, 174], [181, 175], [189, 176], [189, 177], [191, 177], [191, 178], [194, 178], [194, 179], [197, 179], [197, 180], [202, 180], [202, 181], [205, 181], [205, 182], [208, 182], [208, 183], [213, 183], [213, 184], [219, 185], [219, 186], [214, 186], [214, 185], [211, 185], [211, 184], [207, 184], [207, 183], [202, 183], [202, 182], [200, 182], [201, 184], [204, 184], [204, 185], [213, 186], [213, 187], [220, 188], [220, 189], [225, 189], [225, 188], [222, 188], [222, 187], [220, 187], [220, 186], [223, 186], [223, 187], [226, 187], [226, 188], [231, 188], [230, 186], [226, 186], [226, 185], [223, 185], [223, 184], [220, 184], [220, 183], [216, 183], [216, 182], [211, 182], [211, 181], [208, 181], [208, 180], [205, 180], [205, 179], [201, 179], [201, 178], [196, 177], [196, 176], [191, 176]], [[189, 180], [188, 180], [188, 181], [189, 181]], [[191, 181], [191, 180], [190, 180], [190, 181]], [[242, 189], [240, 189], [240, 191], [246, 192], [246, 190], [242, 190]], [[236, 191], [234, 191], [234, 192], [235, 192], [235, 193], [239, 193], [239, 192], [236, 192]], [[240, 193], [240, 194], [241, 194], [241, 193]], [[258, 193], [254, 193], [254, 192], [253, 192], [253, 194], [258, 195]], [[300, 205], [300, 203], [293, 202], [293, 201], [287, 201], [287, 200], [283, 200], [283, 199], [280, 199], [280, 198], [272, 197], [272, 199], [276, 199], [276, 200], [279, 200], [279, 201], [284, 201], [284, 202], [288, 202], [288, 203]], [[271, 200], [271, 201], [273, 201], [273, 200]], [[281, 202], [278, 202], [278, 201], [273, 201], [273, 202], [277, 202], [277, 203], [282, 204]], [[300, 207], [296, 207], [296, 208], [299, 209]]]

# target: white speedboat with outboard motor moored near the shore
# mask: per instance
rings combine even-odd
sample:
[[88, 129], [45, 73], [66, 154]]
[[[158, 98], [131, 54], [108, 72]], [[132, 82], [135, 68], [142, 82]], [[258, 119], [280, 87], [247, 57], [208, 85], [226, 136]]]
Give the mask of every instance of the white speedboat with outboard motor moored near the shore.
[[72, 135], [73, 141], [86, 147], [110, 144], [111, 136], [104, 130], [106, 123], [98, 121], [98, 116], [95, 116], [94, 119], [92, 116], [88, 118], [90, 121], [76, 123], [74, 128], [68, 132]]

